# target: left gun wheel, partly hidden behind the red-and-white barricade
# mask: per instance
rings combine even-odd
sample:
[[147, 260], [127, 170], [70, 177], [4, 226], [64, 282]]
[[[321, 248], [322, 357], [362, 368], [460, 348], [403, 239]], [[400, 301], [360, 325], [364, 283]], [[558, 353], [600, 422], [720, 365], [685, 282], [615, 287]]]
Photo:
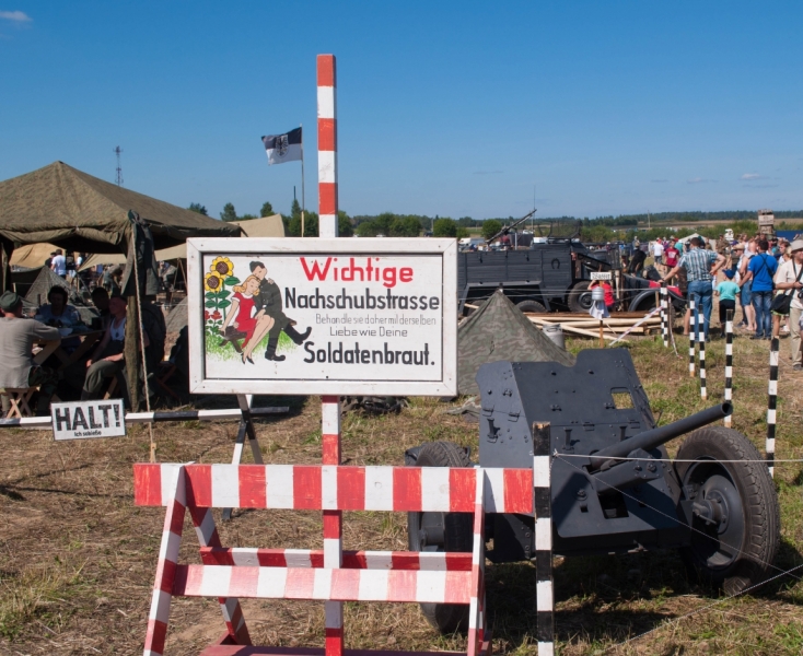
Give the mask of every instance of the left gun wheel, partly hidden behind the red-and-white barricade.
[[[451, 442], [429, 442], [418, 454], [417, 467], [470, 467], [465, 449]], [[472, 551], [470, 513], [407, 513], [410, 551]], [[421, 604], [427, 621], [441, 633], [468, 629], [468, 606]]]

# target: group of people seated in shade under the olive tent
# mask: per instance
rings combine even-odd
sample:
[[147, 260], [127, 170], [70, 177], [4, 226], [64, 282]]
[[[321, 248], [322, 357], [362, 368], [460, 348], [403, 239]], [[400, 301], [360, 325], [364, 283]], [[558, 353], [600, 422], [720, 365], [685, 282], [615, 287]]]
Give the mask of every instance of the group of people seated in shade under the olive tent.
[[[54, 286], [47, 303], [25, 315], [23, 298], [8, 291], [0, 296], [0, 388], [21, 389], [37, 387], [36, 411], [48, 414], [50, 400], [58, 390], [61, 400], [91, 400], [103, 398], [112, 379], [116, 379], [119, 395], [130, 407], [126, 372], [125, 339], [128, 303], [119, 292], [109, 294], [96, 286], [91, 294], [94, 318], [84, 324], [78, 308], [69, 303], [63, 286]], [[33, 315], [33, 316], [31, 316]], [[142, 339], [146, 355], [146, 375], [155, 374], [164, 358], [166, 327], [162, 308], [153, 303], [142, 306]], [[103, 331], [93, 352], [65, 365], [55, 354], [45, 362], [34, 361], [35, 348], [53, 345], [65, 354], [74, 353], [86, 333]], [[143, 379], [140, 380], [143, 383]], [[149, 386], [153, 394], [154, 385]], [[140, 395], [141, 396], [141, 395]], [[3, 411], [10, 401], [2, 396]]]

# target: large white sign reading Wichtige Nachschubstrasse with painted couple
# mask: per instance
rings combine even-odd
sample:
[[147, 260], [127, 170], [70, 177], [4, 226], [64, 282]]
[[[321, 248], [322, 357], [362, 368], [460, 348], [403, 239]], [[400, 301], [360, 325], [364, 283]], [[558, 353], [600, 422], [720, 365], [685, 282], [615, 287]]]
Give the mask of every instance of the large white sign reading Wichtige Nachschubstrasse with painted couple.
[[189, 239], [190, 389], [456, 394], [454, 239]]

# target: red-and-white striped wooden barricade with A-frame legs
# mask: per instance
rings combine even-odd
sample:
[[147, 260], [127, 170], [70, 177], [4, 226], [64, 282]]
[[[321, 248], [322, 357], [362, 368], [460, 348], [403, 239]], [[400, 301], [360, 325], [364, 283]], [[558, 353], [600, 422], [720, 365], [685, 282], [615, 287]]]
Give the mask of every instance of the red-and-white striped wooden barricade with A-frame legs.
[[[219, 598], [226, 632], [205, 652], [209, 656], [237, 654], [238, 645], [251, 645], [238, 598], [469, 605], [467, 656], [489, 654], [485, 515], [535, 509], [533, 469], [140, 464], [133, 472], [135, 503], [167, 508], [146, 656], [164, 653], [173, 596]], [[341, 541], [333, 540], [326, 547], [338, 550], [331, 560], [341, 566], [331, 567], [326, 549], [224, 548], [213, 507], [473, 513], [474, 548], [470, 554], [344, 552]], [[178, 563], [185, 511], [202, 565]], [[326, 656], [342, 655], [342, 628], [327, 623], [326, 634]], [[274, 653], [267, 649], [247, 653]]]

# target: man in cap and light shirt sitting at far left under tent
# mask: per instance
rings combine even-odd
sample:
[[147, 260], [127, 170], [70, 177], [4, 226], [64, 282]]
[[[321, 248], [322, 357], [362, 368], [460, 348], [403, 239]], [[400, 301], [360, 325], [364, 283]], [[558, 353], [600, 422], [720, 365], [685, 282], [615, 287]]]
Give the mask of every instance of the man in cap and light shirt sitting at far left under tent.
[[[36, 413], [46, 415], [50, 411], [50, 398], [58, 386], [58, 376], [50, 368], [38, 366], [33, 361], [34, 343], [60, 342], [58, 328], [22, 316], [22, 296], [5, 292], [0, 296], [0, 387], [38, 387]], [[3, 397], [3, 411], [10, 403]]]

